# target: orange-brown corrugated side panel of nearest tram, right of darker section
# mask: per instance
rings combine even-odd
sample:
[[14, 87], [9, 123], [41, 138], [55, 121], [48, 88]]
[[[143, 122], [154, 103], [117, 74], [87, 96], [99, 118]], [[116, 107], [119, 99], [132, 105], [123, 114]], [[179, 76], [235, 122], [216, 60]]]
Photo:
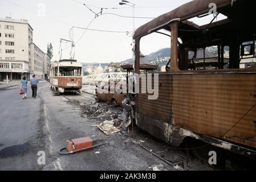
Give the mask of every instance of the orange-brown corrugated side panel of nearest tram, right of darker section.
[[256, 147], [256, 75], [174, 75], [172, 102], [177, 126]]

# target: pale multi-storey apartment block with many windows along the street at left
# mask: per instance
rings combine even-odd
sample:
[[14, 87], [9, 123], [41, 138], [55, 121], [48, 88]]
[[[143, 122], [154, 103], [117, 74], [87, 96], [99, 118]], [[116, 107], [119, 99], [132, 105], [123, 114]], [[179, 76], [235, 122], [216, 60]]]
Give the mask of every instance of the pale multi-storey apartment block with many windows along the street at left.
[[0, 81], [28, 80], [33, 74], [44, 80], [50, 59], [33, 43], [33, 28], [28, 20], [0, 19]]

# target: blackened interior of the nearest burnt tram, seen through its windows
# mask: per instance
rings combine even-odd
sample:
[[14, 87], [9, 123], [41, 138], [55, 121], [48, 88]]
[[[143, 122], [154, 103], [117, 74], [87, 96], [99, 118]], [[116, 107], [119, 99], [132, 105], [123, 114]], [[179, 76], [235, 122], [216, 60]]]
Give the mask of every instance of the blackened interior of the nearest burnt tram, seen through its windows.
[[[225, 6], [214, 14], [197, 15], [197, 19], [212, 18], [202, 26], [193, 23], [194, 17], [181, 20], [178, 24], [178, 69], [216, 71], [253, 67], [255, 63], [251, 59], [256, 57], [253, 19], [256, 15], [255, 2], [250, 4], [247, 7], [245, 2], [236, 1], [231, 8]], [[220, 15], [226, 18], [217, 20]], [[152, 33], [171, 36], [170, 31], [169, 24], [166, 24]], [[208, 49], [214, 49], [214, 54], [207, 52]], [[170, 62], [166, 64], [166, 72], [170, 70]]]

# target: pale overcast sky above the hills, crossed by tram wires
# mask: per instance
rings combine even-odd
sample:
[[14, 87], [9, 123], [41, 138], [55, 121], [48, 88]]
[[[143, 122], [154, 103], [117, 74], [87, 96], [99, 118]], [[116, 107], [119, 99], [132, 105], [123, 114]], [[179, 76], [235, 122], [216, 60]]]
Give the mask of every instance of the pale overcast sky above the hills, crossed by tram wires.
[[[34, 43], [46, 52], [47, 43], [51, 42], [54, 49], [52, 60], [59, 60], [59, 39], [70, 39], [68, 32], [72, 26], [87, 27], [95, 17], [95, 14], [88, 10], [83, 3], [86, 3], [95, 13], [100, 12], [100, 7], [119, 7], [120, 9], [104, 9], [103, 13], [132, 16], [132, 8], [127, 5], [120, 6], [120, 1], [0, 0], [0, 15], [1, 18], [11, 16], [13, 19], [28, 19], [34, 29]], [[189, 1], [133, 0], [131, 2], [136, 4], [135, 16], [157, 17]], [[149, 22], [149, 20], [151, 19], [136, 18], [135, 28]], [[108, 63], [110, 61], [123, 61], [132, 57], [132, 37], [125, 33], [132, 31], [132, 18], [105, 14], [94, 19], [88, 28], [122, 31], [122, 33], [87, 30], [83, 35], [84, 30], [74, 28], [75, 59], [78, 61]], [[62, 58], [68, 58], [70, 52], [68, 44], [62, 44], [62, 48], [65, 49], [65, 47], [67, 49], [63, 51]], [[165, 47], [170, 47], [168, 36], [152, 35], [141, 40], [141, 51], [145, 55]]]

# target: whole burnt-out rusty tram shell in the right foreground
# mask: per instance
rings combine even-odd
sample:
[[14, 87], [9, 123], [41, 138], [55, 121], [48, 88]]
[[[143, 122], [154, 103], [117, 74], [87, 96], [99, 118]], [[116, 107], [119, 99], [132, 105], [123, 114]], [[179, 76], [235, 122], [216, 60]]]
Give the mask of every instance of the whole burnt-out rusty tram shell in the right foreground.
[[[208, 14], [210, 3], [227, 19], [204, 26], [189, 21]], [[172, 146], [191, 137], [256, 158], [256, 65], [241, 68], [243, 58], [255, 58], [255, 7], [255, 1], [194, 0], [136, 30], [136, 73], [140, 74], [144, 36], [169, 31], [172, 52], [170, 68], [157, 72], [157, 100], [148, 100], [148, 93], [136, 95], [140, 129]], [[217, 62], [209, 66], [203, 59], [201, 65], [195, 65], [191, 52], [196, 55], [198, 48], [209, 46], [218, 48]], [[225, 46], [229, 47], [227, 64]]]

